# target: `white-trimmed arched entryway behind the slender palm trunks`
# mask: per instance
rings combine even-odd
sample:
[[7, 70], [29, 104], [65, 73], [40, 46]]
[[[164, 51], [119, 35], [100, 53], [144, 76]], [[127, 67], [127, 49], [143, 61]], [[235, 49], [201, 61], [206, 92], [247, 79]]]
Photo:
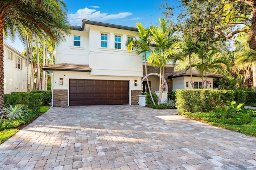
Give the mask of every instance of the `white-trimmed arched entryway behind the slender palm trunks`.
[[[158, 92], [159, 91], [159, 78], [160, 78], [160, 74], [158, 73], [150, 73], [148, 74], [148, 81], [149, 81], [149, 84], [150, 84], [150, 89], [152, 92]], [[163, 76], [162, 76], [163, 78]], [[165, 78], [163, 78], [164, 82], [166, 82]], [[142, 92], [147, 92], [148, 91], [148, 85], [147, 85], [147, 82], [146, 82], [146, 76], [144, 76], [142, 78]], [[164, 88], [164, 91], [167, 91], [168, 92], [168, 84], [165, 83], [166, 85], [166, 88]]]

